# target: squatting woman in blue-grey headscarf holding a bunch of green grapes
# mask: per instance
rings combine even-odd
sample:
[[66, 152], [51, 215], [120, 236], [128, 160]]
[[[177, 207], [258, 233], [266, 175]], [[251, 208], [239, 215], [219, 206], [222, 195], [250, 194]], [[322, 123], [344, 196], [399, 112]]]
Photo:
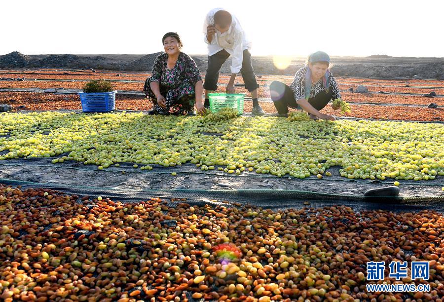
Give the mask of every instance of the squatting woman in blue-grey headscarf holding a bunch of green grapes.
[[[293, 83], [288, 86], [279, 81], [270, 84], [270, 95], [278, 116], [287, 116], [288, 108], [303, 109], [312, 119], [334, 120], [331, 115], [320, 113], [330, 100], [340, 98], [336, 80], [329, 71], [330, 56], [317, 51], [312, 53], [296, 72]], [[333, 110], [338, 108], [332, 105]]]

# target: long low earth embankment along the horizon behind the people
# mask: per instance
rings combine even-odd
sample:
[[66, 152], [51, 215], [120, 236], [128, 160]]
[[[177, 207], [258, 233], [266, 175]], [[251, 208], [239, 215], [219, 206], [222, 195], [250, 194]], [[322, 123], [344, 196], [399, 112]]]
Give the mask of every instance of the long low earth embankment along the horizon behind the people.
[[[162, 52], [148, 55], [32, 55], [17, 51], [0, 56], [0, 68], [67, 68], [97, 69], [116, 71], [150, 72], [154, 60]], [[207, 55], [193, 55], [193, 60], [201, 72], [207, 69]], [[387, 55], [372, 55], [367, 58], [336, 57], [332, 72], [335, 76], [381, 77], [381, 78], [437, 78], [444, 79], [443, 58], [400, 58]], [[295, 59], [285, 70], [273, 64], [272, 57], [253, 57], [253, 68], [257, 75], [294, 76], [303, 66], [303, 60]], [[222, 73], [231, 73], [231, 58], [222, 65]]]

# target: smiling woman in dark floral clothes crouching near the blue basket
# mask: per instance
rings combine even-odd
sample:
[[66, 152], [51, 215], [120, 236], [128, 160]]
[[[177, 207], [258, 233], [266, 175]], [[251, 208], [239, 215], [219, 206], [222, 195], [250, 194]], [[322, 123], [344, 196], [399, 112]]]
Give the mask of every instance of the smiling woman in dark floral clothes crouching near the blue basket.
[[166, 33], [162, 43], [165, 53], [154, 61], [144, 86], [153, 103], [149, 113], [194, 115], [194, 104], [198, 113], [205, 113], [202, 77], [193, 59], [181, 52], [181, 38], [177, 33]]

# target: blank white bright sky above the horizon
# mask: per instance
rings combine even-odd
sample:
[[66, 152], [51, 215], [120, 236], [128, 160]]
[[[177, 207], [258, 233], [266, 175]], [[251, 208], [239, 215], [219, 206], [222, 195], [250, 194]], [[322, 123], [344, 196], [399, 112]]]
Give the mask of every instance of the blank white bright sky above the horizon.
[[206, 54], [206, 13], [223, 7], [253, 41], [253, 55], [444, 57], [442, 0], [20, 0], [1, 1], [0, 55], [147, 54], [178, 32]]

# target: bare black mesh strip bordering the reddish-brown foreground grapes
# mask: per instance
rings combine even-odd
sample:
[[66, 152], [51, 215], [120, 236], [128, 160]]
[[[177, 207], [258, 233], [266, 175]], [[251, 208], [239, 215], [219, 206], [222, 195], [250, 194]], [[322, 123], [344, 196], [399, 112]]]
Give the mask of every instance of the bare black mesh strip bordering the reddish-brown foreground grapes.
[[[113, 189], [48, 185], [0, 179], [0, 183], [23, 188], [48, 188], [78, 196], [109, 197], [114, 201], [138, 202], [151, 197], [186, 198], [187, 203], [204, 205], [223, 204], [225, 206], [253, 205], [273, 210], [322, 208], [333, 205], [347, 205], [355, 211], [388, 210], [394, 212], [434, 210], [444, 213], [444, 196], [437, 197], [365, 197], [345, 196], [297, 190], [192, 190], [192, 189]], [[182, 202], [182, 201], [180, 201]], [[174, 202], [170, 202], [174, 206]]]

